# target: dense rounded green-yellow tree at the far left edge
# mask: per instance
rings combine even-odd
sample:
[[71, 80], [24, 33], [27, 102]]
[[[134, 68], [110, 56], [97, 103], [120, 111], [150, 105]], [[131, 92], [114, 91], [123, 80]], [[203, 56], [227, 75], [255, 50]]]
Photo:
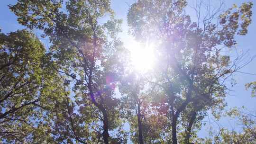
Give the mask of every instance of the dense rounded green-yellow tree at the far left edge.
[[[0, 141], [29, 143], [42, 135], [44, 112], [61, 83], [40, 40], [27, 30], [0, 34]], [[46, 103], [48, 101], [48, 103]]]

